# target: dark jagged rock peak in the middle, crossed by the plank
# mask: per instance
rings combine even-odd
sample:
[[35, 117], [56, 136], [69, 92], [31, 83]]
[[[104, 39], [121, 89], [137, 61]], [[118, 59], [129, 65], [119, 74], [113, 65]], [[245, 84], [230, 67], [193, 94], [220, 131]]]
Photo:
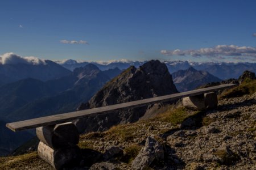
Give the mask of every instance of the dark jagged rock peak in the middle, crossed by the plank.
[[[77, 110], [104, 107], [155, 96], [178, 92], [166, 65], [158, 60], [151, 60], [136, 69], [129, 67], [120, 75], [110, 80], [87, 103], [82, 103]], [[108, 115], [83, 118], [76, 121], [80, 132], [106, 130], [113, 125], [135, 122], [144, 115], [148, 108], [134, 108]]]

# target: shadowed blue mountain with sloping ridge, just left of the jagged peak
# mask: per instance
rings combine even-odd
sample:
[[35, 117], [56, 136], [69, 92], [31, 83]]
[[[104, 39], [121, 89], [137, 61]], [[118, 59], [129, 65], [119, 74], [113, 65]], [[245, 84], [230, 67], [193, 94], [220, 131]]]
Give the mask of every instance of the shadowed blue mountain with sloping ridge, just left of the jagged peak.
[[33, 100], [10, 112], [6, 118], [18, 121], [75, 111], [81, 102], [89, 100], [109, 79], [109, 76], [95, 65], [77, 68], [71, 75], [45, 83], [53, 89], [57, 88], [57, 84], [64, 84], [60, 86], [64, 91]]

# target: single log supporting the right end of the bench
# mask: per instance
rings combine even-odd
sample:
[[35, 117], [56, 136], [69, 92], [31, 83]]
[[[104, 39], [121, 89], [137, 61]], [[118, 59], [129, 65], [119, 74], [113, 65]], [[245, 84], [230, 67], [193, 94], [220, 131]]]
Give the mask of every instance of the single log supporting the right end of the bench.
[[205, 109], [213, 109], [217, 107], [218, 99], [214, 92], [201, 94], [196, 96], [184, 97], [182, 104], [187, 109], [203, 111]]

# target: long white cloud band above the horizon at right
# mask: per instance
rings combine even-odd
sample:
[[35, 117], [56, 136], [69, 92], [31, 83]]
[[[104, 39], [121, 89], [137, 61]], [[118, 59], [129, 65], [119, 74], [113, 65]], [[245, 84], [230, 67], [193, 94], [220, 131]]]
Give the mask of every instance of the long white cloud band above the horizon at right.
[[213, 48], [201, 48], [198, 50], [161, 50], [166, 56], [192, 56], [192, 57], [224, 57], [224, 56], [247, 56], [256, 57], [256, 48], [251, 46], [217, 45]]

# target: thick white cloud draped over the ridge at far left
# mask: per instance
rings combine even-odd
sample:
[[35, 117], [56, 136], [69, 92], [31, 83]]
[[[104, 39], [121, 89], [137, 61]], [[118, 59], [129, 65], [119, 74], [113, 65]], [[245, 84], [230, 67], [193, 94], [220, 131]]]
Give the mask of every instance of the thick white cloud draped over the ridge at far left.
[[46, 65], [46, 62], [43, 59], [39, 59], [36, 57], [22, 57], [18, 56], [14, 53], [5, 53], [2, 56], [0, 56], [0, 63], [2, 65], [6, 64], [18, 64], [18, 63], [25, 63], [30, 65]]

